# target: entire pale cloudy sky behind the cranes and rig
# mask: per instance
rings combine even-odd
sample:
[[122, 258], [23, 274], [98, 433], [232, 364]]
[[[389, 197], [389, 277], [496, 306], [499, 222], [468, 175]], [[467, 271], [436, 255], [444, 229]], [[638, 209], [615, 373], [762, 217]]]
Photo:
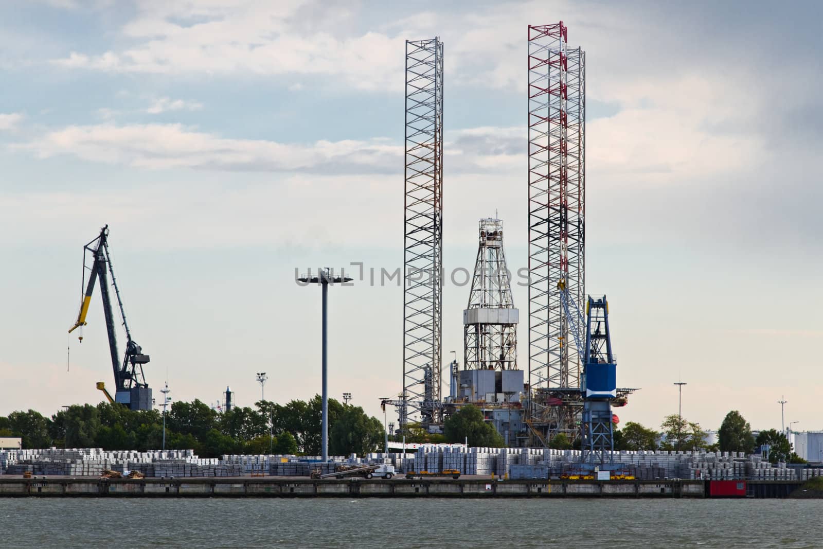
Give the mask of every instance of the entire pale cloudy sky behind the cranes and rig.
[[[587, 53], [587, 291], [606, 294], [621, 421], [823, 429], [823, 8], [793, 2], [0, 4], [0, 414], [100, 402], [100, 298], [67, 334], [82, 246], [109, 225], [156, 393], [209, 404], [320, 390], [383, 419], [402, 389], [405, 40], [444, 42], [444, 267], [499, 216], [527, 257], [526, 30]], [[444, 363], [468, 288], [444, 287]], [[514, 287], [525, 320], [527, 294]], [[526, 364], [526, 324], [518, 355]], [[121, 347], [124, 336], [119, 336]], [[448, 389], [448, 387], [446, 388]], [[156, 394], [159, 397], [159, 393]], [[389, 414], [388, 421], [396, 421]]]

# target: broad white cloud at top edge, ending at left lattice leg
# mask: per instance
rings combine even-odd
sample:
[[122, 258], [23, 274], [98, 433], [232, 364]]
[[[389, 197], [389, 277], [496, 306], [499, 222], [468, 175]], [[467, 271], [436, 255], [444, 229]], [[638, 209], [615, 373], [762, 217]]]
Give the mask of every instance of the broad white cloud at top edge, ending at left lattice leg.
[[[106, 72], [336, 76], [364, 90], [402, 86], [402, 40], [370, 31], [335, 34], [352, 16], [343, 7], [316, 9], [321, 5], [302, 1], [145, 2], [138, 7], [137, 16], [121, 29], [132, 47], [72, 52], [53, 63]], [[330, 17], [334, 25], [323, 25]], [[311, 26], [300, 23], [306, 18]]]

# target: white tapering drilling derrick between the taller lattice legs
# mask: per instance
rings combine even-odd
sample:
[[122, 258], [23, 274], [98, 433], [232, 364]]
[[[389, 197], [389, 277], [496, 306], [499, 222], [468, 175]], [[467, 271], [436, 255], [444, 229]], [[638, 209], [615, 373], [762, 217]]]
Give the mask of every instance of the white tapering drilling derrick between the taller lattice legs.
[[503, 222], [480, 220], [477, 263], [463, 311], [463, 360], [468, 370], [517, 370], [517, 323], [503, 254]]

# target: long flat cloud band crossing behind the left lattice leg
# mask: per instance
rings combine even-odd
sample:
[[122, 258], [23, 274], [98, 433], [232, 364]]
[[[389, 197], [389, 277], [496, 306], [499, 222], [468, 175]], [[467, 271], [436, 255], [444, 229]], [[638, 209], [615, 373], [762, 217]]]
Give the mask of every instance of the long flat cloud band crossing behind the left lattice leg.
[[[113, 112], [102, 109], [101, 117]], [[519, 170], [523, 167], [523, 128], [470, 128], [449, 134], [444, 165], [459, 173]], [[402, 142], [385, 137], [337, 142], [282, 143], [234, 139], [179, 123], [74, 125], [12, 146], [40, 158], [76, 156], [85, 161], [165, 170], [310, 172], [322, 174], [401, 174]]]

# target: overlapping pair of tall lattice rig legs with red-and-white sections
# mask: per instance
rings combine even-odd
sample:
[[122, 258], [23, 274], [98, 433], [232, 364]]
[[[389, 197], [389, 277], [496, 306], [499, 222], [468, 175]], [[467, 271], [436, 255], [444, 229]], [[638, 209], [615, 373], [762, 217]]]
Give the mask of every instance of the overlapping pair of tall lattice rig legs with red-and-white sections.
[[[580, 361], [557, 281], [585, 295], [585, 53], [562, 21], [528, 27], [528, 425], [544, 444], [574, 437]], [[581, 326], [576, 326], [578, 330]], [[533, 442], [533, 440], [532, 440]]]

